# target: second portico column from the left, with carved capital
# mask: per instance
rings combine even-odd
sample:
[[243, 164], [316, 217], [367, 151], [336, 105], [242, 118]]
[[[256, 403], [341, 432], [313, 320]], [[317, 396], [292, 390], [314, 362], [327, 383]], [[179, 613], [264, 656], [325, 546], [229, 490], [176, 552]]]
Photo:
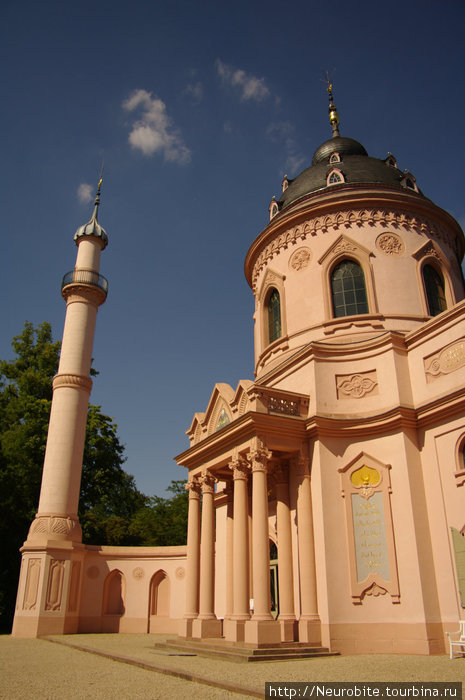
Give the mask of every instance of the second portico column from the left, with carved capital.
[[206, 469], [200, 477], [202, 485], [202, 519], [200, 532], [200, 596], [199, 614], [193, 621], [192, 636], [220, 637], [221, 622], [216, 619], [215, 605], [215, 477]]

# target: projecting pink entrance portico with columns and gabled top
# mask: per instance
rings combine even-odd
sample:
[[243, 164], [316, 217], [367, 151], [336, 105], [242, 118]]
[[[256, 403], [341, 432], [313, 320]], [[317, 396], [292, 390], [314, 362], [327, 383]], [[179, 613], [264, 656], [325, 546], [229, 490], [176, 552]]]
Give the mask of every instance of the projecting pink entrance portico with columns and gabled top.
[[[238, 392], [243, 393], [244, 387], [239, 386]], [[190, 503], [188, 602], [182, 636], [224, 636], [228, 641], [255, 645], [297, 640], [318, 644], [311, 469], [305, 431], [308, 400], [295, 395], [284, 401], [279, 391], [263, 392], [253, 386], [247, 387], [242, 399], [239, 421], [226, 424], [178, 457], [189, 469]], [[215, 400], [221, 404], [220, 393]], [[297, 485], [297, 497], [292, 500], [290, 479]], [[306, 533], [300, 538], [295, 536], [297, 523], [303, 524]], [[277, 619], [271, 613], [270, 541], [278, 551]], [[215, 550], [222, 546], [225, 566], [215, 571]], [[298, 569], [304, 572], [303, 595]], [[221, 577], [221, 588], [215, 586], [215, 576]], [[219, 600], [215, 600], [215, 589]]]

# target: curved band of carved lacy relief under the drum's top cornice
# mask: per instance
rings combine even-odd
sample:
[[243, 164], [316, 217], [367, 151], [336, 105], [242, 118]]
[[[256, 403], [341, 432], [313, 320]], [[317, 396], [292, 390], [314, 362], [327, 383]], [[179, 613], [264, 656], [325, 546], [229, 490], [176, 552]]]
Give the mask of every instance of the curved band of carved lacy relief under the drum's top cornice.
[[320, 232], [325, 233], [329, 229], [350, 229], [353, 227], [373, 226], [381, 224], [389, 228], [404, 228], [414, 230], [418, 234], [428, 233], [429, 236], [442, 240], [453, 247], [450, 234], [431, 220], [413, 216], [410, 212], [400, 210], [359, 209], [337, 212], [324, 217], [315, 217], [284, 231], [273, 241], [266, 245], [254, 262], [252, 283], [256, 292], [258, 276], [267, 262], [280, 250], [295, 245], [298, 241], [305, 241], [309, 236], [316, 236]]

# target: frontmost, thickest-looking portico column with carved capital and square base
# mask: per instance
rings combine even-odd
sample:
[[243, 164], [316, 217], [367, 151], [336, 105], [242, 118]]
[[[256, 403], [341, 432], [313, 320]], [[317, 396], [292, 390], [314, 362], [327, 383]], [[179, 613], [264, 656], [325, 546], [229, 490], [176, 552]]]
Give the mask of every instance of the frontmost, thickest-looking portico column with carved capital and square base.
[[247, 455], [252, 467], [252, 576], [254, 613], [245, 625], [245, 641], [277, 643], [279, 623], [270, 612], [270, 551], [268, 529], [267, 464], [271, 458], [264, 443], [255, 438]]

